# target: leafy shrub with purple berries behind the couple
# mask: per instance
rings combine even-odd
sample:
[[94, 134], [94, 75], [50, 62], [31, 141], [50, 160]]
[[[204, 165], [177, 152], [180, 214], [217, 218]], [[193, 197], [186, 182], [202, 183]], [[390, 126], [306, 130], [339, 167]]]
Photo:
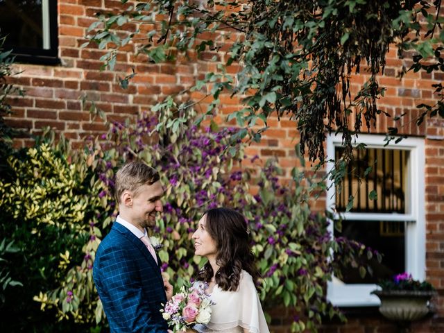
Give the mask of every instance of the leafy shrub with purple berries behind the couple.
[[[264, 305], [296, 308], [301, 314], [294, 318], [293, 329], [297, 331], [316, 330], [323, 316], [343, 318], [325, 299], [326, 282], [331, 280], [332, 273], [339, 273], [339, 265], [332, 261], [331, 254], [342, 250], [344, 262], [356, 263], [356, 258], [368, 249], [344, 239], [332, 240], [325, 216], [312, 213], [308, 205], [315, 187], [296, 169], [293, 182], [283, 186], [278, 181], [278, 167], [269, 162], [259, 173], [258, 194], [250, 194], [253, 174], [242, 168], [241, 162], [247, 157], [243, 153], [245, 145], [237, 139], [237, 130], [218, 128], [214, 123], [199, 130], [193, 123], [194, 116], [192, 110], [179, 108], [170, 101], [167, 108], [159, 110], [159, 117], [144, 114], [136, 123], [110, 123], [107, 135], [90, 142], [88, 160], [106, 187], [98, 195], [103, 207], [110, 207], [108, 212], [112, 213], [101, 215], [103, 224], [95, 225], [101, 230], [94, 231], [94, 237], [108, 232], [117, 214], [112, 212], [114, 173], [126, 160], [142, 159], [160, 171], [166, 186], [164, 213], [154, 233], [162, 238], [162, 271], [169, 274], [176, 289], [196, 275], [205, 262], [194, 255], [191, 240], [200, 215], [208, 207], [227, 205], [244, 213], [250, 223], [253, 250], [262, 273], [259, 287], [262, 300], [266, 300]], [[164, 126], [158, 126], [159, 123]], [[305, 182], [307, 185], [303, 185]], [[95, 243], [88, 251], [94, 259]], [[90, 281], [90, 271], [76, 268], [74, 261], [71, 264], [71, 271], [78, 272], [78, 281]], [[57, 290], [57, 302], [51, 303], [58, 307], [60, 318], [71, 314], [78, 320], [78, 313], [95, 307], [95, 323], [105, 323], [92, 284], [78, 284], [74, 293], [78, 302], [71, 302], [72, 307], [67, 308], [65, 297], [73, 290], [68, 287], [69, 279]], [[54, 300], [51, 295], [54, 292], [43, 294], [40, 300]], [[91, 317], [81, 319], [95, 324]]]

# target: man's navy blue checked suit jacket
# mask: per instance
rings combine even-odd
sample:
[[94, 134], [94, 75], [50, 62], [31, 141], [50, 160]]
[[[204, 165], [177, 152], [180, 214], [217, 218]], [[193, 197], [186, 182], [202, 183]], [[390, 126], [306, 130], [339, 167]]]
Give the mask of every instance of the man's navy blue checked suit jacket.
[[167, 302], [160, 268], [145, 244], [114, 222], [94, 259], [94, 282], [111, 332], [166, 332]]

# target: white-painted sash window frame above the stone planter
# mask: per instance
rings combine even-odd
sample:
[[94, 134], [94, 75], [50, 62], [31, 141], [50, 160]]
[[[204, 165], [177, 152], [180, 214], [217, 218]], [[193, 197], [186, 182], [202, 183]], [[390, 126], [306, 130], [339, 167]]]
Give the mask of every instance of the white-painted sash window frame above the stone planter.
[[[425, 143], [424, 139], [409, 137], [398, 144], [394, 140], [384, 147], [385, 135], [362, 135], [353, 139], [353, 144], [366, 144], [367, 148], [403, 149], [409, 151], [407, 167], [406, 214], [372, 214], [343, 212], [346, 220], [355, 221], [407, 221], [405, 224], [405, 267], [414, 279], [425, 280]], [[341, 135], [327, 136], [327, 160], [335, 158], [334, 148], [341, 146]], [[327, 162], [327, 172], [334, 167], [334, 162]], [[332, 210], [336, 200], [334, 183], [327, 180], [327, 210]], [[334, 220], [339, 214], [334, 214]], [[330, 223], [329, 231], [334, 234], [334, 225]], [[402, 272], [400, 272], [402, 273]], [[380, 304], [377, 296], [370, 294], [377, 288], [376, 284], [345, 284], [337, 278], [327, 283], [327, 300], [338, 307], [367, 307]]]

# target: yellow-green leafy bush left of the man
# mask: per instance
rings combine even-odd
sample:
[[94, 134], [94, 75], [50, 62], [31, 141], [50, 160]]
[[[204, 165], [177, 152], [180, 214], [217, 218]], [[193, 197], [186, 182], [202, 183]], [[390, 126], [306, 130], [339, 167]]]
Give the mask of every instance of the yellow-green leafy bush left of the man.
[[[76, 321], [94, 321], [97, 299], [88, 253], [99, 244], [93, 235], [101, 236], [94, 224], [103, 185], [94, 180], [86, 156], [70, 152], [63, 140], [56, 146], [49, 139], [8, 157], [12, 181], [0, 180], [0, 228], [20, 249], [9, 269], [24, 285], [6, 295], [1, 325], [9, 332], [61, 329], [55, 319], [67, 318], [65, 312]], [[59, 303], [60, 311], [42, 315], [41, 309]]]

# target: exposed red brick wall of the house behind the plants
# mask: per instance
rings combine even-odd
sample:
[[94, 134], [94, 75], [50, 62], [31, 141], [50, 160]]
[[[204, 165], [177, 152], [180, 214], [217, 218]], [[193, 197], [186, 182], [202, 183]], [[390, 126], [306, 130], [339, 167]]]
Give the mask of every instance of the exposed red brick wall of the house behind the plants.
[[[104, 51], [91, 45], [81, 49], [85, 42], [83, 36], [86, 29], [94, 22], [94, 14], [103, 8], [118, 8], [119, 1], [108, 0], [60, 0], [59, 10], [59, 44], [61, 65], [17, 65], [17, 71], [22, 71], [12, 79], [17, 85], [26, 89], [25, 97], [11, 99], [14, 114], [8, 123], [17, 128], [25, 128], [31, 133], [39, 133], [43, 126], [51, 126], [64, 133], [77, 144], [82, 144], [88, 135], [96, 135], [105, 130], [103, 121], [92, 116], [87, 108], [80, 103], [80, 96], [87, 98], [108, 114], [108, 119], [122, 121], [134, 117], [140, 112], [149, 110], [152, 105], [164, 99], [165, 96], [189, 87], [196, 78], [207, 71], [215, 71], [214, 62], [207, 60], [214, 53], [207, 53], [203, 60], [182, 62], [180, 64], [155, 65], [144, 62], [142, 58], [134, 59], [131, 55], [134, 47], [129, 45], [125, 51], [118, 53], [117, 71], [100, 71], [99, 58]], [[135, 26], [128, 24], [127, 29], [134, 30]], [[223, 53], [219, 59], [223, 60]], [[207, 59], [207, 60], [205, 60]], [[117, 84], [119, 76], [128, 73], [130, 63], [135, 66], [137, 76], [130, 87], [123, 90]], [[427, 119], [422, 126], [416, 126], [414, 119], [418, 117], [416, 105], [433, 101], [432, 83], [444, 79], [442, 73], [427, 74], [424, 72], [409, 73], [402, 80], [398, 71], [402, 65], [409, 67], [406, 60], [399, 60], [396, 52], [391, 49], [388, 53], [387, 66], [380, 84], [385, 86], [386, 96], [379, 101], [379, 107], [392, 116], [407, 112], [402, 118], [400, 133], [425, 137], [426, 143], [426, 184], [425, 200], [427, 210], [427, 280], [444, 292], [444, 120]], [[236, 65], [229, 69], [237, 71]], [[366, 74], [354, 76], [352, 87], [355, 91], [366, 80]], [[191, 94], [194, 99], [200, 99], [200, 92]], [[205, 110], [203, 100], [201, 106]], [[239, 100], [230, 99], [228, 94], [221, 95], [224, 106], [216, 119], [223, 122], [223, 116], [234, 110], [239, 110]], [[379, 117], [377, 127], [372, 133], [385, 133], [388, 126], [394, 126], [393, 118]], [[277, 117], [268, 119], [270, 129], [266, 131], [262, 142], [252, 144], [247, 148], [250, 155], [259, 155], [262, 159], [273, 155], [280, 157], [280, 164], [289, 176], [291, 168], [299, 166], [295, 157], [294, 145], [298, 142], [295, 123], [289, 119], [278, 121]], [[19, 139], [17, 145], [27, 144], [28, 139]], [[325, 209], [325, 200], [316, 200], [318, 210]], [[415, 327], [414, 332], [444, 332], [444, 298], [436, 299], [436, 314], [422, 321]], [[287, 332], [289, 318], [286, 312], [279, 318], [275, 314], [273, 325], [275, 332]], [[441, 325], [441, 326], [440, 326]], [[438, 327], [438, 328], [437, 328]], [[350, 316], [346, 325], [326, 325], [322, 332], [397, 332], [396, 327], [387, 323], [377, 313], [361, 313]]]

